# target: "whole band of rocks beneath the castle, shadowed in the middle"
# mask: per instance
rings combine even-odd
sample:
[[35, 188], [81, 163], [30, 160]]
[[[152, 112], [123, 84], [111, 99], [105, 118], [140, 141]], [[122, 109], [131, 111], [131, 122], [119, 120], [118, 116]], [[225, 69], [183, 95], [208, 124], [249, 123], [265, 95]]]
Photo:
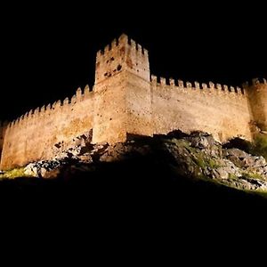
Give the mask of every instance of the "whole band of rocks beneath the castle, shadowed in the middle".
[[150, 156], [157, 164], [167, 164], [179, 176], [206, 179], [242, 190], [267, 190], [267, 163], [263, 157], [223, 148], [212, 135], [205, 133], [158, 135], [113, 145], [74, 142], [69, 150], [59, 150], [51, 161], [29, 164], [25, 174], [54, 178], [144, 156]]

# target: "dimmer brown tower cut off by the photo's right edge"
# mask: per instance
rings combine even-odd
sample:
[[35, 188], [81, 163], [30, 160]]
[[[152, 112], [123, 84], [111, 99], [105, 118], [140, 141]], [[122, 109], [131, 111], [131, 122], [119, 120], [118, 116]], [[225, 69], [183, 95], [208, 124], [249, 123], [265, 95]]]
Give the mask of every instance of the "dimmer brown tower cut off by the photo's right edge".
[[267, 131], [267, 82], [265, 79], [253, 79], [252, 84], [244, 85], [247, 92], [249, 108], [257, 127]]

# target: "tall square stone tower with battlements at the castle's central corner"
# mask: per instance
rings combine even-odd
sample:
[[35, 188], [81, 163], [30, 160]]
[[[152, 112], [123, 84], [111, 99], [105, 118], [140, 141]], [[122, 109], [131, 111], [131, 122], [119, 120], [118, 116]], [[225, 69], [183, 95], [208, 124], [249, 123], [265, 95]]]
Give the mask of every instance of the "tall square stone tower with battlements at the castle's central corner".
[[93, 143], [152, 135], [148, 51], [122, 35], [96, 56]]

